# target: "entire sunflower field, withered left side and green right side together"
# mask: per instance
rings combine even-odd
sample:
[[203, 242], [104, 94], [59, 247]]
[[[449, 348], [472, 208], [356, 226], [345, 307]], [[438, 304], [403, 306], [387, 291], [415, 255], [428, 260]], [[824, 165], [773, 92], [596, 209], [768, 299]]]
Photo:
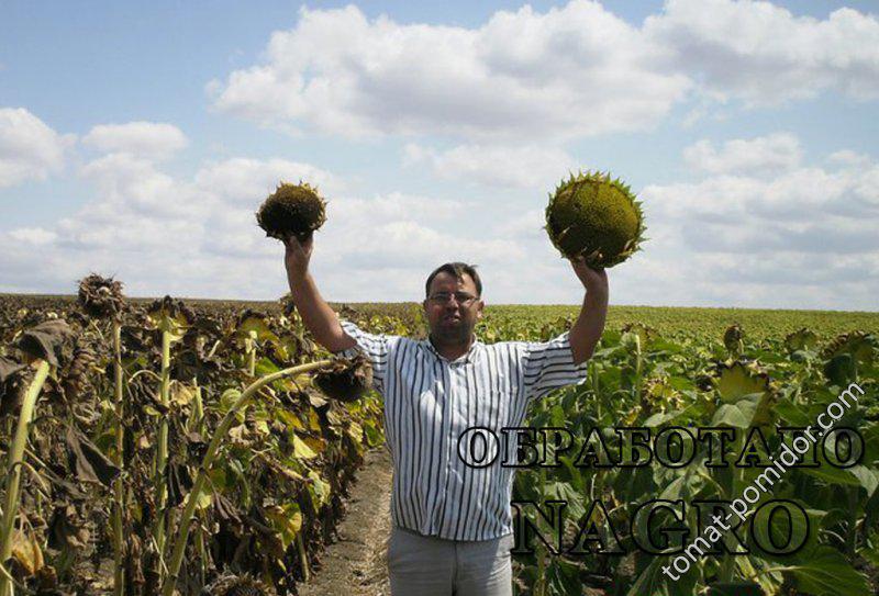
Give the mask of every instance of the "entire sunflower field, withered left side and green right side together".
[[[320, 389], [340, 363], [289, 297], [126, 300], [114, 283], [0, 296], [0, 596], [296, 594], [335, 539], [364, 453], [383, 443], [381, 401]], [[424, 334], [415, 304], [334, 307], [374, 333]], [[477, 334], [548, 339], [576, 313], [489, 306]], [[516, 474], [513, 499], [538, 504], [521, 509], [532, 551], [514, 555], [516, 593], [876, 594], [878, 333], [872, 313], [612, 307], [587, 381], [533, 403], [527, 424], [597, 440], [611, 462], [625, 457], [614, 428], [733, 427], [728, 457], [753, 465], [708, 466], [701, 442], [677, 446], [693, 452], [679, 468], [581, 465], [547, 443], [557, 465]], [[825, 440], [819, 465], [772, 487], [808, 524], [754, 519], [679, 580], [664, 574], [705, 504], [739, 496], [783, 429], [812, 424], [852, 383], [865, 395], [836, 426], [857, 431], [859, 451]], [[755, 428], [765, 440], [749, 439]], [[685, 507], [639, 522], [650, 499]], [[586, 528], [608, 548], [539, 540], [559, 529], [539, 508], [553, 501], [565, 543]], [[645, 552], [650, 537], [666, 548]], [[782, 539], [799, 550], [765, 548]]]

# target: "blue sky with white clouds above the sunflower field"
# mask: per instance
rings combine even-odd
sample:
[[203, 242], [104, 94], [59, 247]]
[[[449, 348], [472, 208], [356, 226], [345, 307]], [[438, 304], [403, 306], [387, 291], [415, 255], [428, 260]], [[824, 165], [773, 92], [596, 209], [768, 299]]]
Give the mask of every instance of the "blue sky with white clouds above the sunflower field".
[[548, 193], [647, 241], [612, 304], [877, 311], [879, 1], [0, 3], [0, 292], [275, 300], [254, 216], [316, 184], [327, 300], [577, 304]]

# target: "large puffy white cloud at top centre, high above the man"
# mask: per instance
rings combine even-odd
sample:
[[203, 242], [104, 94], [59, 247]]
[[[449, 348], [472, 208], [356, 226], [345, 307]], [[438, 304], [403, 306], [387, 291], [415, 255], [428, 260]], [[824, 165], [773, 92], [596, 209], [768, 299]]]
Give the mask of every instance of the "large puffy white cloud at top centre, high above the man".
[[266, 60], [212, 81], [214, 106], [359, 136], [578, 137], [639, 130], [680, 100], [666, 49], [599, 3], [497, 12], [478, 29], [302, 9]]

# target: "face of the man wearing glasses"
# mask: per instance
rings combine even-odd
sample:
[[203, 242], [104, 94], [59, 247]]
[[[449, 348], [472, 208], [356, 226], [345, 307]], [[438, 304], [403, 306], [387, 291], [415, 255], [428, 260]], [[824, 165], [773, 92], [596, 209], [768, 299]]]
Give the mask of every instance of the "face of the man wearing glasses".
[[[456, 297], [448, 300], [449, 296]], [[467, 297], [476, 300], [468, 301]], [[466, 344], [482, 317], [482, 301], [467, 273], [461, 280], [445, 271], [437, 273], [431, 281], [431, 291], [423, 305], [431, 336], [441, 344]]]

